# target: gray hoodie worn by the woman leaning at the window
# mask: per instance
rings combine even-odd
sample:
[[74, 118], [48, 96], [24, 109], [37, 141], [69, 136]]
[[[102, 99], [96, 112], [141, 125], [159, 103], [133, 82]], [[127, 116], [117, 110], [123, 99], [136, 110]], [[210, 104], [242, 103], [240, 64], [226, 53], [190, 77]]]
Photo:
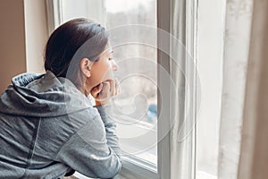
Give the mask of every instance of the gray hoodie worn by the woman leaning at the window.
[[72, 168], [95, 178], [121, 169], [115, 124], [71, 81], [23, 73], [0, 98], [0, 178], [63, 178]]

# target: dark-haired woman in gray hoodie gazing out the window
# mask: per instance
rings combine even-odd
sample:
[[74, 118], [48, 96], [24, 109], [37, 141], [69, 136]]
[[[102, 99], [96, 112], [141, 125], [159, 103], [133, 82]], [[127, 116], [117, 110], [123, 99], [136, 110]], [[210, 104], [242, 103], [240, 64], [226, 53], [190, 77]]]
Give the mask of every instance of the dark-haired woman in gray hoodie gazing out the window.
[[[0, 178], [111, 178], [121, 169], [110, 99], [119, 93], [108, 34], [67, 21], [46, 44], [45, 74], [23, 73], [0, 98]], [[96, 107], [88, 100], [91, 94]]]

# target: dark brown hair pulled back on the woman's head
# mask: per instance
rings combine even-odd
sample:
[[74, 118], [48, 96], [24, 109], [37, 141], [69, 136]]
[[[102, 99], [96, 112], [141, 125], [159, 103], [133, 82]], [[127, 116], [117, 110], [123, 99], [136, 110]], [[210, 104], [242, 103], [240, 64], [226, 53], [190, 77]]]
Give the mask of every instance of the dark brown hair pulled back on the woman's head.
[[107, 43], [108, 33], [100, 24], [85, 18], [67, 21], [54, 30], [46, 43], [45, 69], [57, 77], [79, 75], [80, 60], [87, 57], [96, 61]]

